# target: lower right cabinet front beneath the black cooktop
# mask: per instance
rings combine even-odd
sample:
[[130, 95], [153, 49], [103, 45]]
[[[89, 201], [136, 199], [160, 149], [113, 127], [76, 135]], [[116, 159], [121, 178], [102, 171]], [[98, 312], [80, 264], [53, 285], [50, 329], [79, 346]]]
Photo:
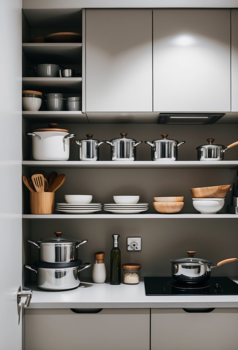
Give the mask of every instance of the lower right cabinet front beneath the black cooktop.
[[236, 308], [151, 309], [151, 350], [237, 350], [237, 323]]

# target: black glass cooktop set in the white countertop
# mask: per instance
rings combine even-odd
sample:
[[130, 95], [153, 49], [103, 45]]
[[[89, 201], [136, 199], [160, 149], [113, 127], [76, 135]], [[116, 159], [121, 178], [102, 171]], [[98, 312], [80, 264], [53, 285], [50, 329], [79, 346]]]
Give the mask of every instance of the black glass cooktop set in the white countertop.
[[146, 295], [238, 295], [238, 284], [228, 277], [211, 277], [205, 283], [183, 283], [172, 277], [144, 277]]

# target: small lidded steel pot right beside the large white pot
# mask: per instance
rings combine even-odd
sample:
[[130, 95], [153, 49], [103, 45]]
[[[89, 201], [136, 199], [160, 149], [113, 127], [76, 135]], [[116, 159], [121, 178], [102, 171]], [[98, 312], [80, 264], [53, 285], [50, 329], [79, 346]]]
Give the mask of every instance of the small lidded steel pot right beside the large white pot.
[[92, 134], [87, 134], [87, 139], [84, 140], [74, 140], [77, 145], [79, 145], [79, 160], [82, 161], [95, 161], [99, 160], [99, 146], [104, 143], [104, 141], [92, 139]]

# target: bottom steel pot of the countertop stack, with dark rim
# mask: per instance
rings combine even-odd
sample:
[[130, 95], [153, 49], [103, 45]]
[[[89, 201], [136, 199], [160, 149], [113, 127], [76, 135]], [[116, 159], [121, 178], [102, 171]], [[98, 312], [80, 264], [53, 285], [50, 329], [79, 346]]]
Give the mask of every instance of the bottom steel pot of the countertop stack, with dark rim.
[[37, 274], [37, 286], [47, 290], [66, 290], [76, 288], [80, 284], [80, 272], [91, 266], [82, 260], [64, 264], [50, 264], [47, 262], [34, 262], [33, 266], [24, 265]]

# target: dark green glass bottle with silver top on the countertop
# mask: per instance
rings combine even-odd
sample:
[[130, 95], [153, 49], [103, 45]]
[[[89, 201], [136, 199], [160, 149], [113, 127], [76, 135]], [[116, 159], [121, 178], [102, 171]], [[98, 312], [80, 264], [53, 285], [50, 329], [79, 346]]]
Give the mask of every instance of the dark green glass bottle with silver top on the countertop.
[[121, 284], [121, 251], [118, 248], [118, 238], [120, 235], [112, 235], [113, 248], [110, 256], [110, 284]]

